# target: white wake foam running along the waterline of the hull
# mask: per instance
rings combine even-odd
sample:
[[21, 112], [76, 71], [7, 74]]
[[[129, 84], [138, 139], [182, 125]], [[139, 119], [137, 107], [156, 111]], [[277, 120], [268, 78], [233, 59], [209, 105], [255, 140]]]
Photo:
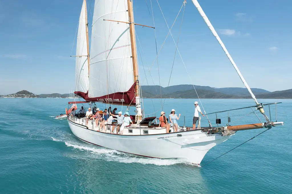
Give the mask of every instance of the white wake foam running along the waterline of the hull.
[[[89, 156], [92, 158], [103, 159], [106, 161], [114, 161], [120, 163], [140, 163], [140, 164], [152, 164], [152, 165], [174, 165], [174, 164], [187, 164], [193, 165], [183, 159], [160, 159], [160, 158], [142, 158], [133, 154], [126, 154], [124, 152], [102, 148], [102, 147], [91, 147], [91, 145], [80, 145], [65, 142], [68, 147], [74, 149], [87, 151]], [[87, 155], [88, 156], [88, 155]]]

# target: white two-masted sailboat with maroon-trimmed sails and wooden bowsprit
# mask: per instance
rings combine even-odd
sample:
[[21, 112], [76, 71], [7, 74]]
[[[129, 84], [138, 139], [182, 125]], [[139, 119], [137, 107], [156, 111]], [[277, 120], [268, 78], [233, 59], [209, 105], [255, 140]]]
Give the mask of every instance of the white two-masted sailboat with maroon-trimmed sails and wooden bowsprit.
[[[284, 122], [273, 122], [267, 117], [264, 106], [270, 107], [270, 105], [277, 105], [277, 103], [265, 105], [258, 103], [198, 1], [192, 0], [192, 2], [222, 46], [256, 103], [256, 105], [243, 108], [260, 111], [265, 122], [219, 126], [221, 122], [217, 118], [217, 126], [215, 127], [211, 125], [209, 127], [199, 126], [192, 130], [183, 126], [178, 132], [174, 132], [171, 127], [171, 133], [166, 133], [165, 127], [159, 127], [153, 122], [156, 117], [145, 118], [142, 116], [135, 25], [143, 27], [145, 25], [134, 23], [132, 0], [95, 1], [90, 55], [87, 9], [86, 0], [84, 0], [79, 18], [77, 52], [74, 56], [76, 57], [76, 89], [74, 94], [84, 98], [84, 103], [101, 102], [111, 105], [135, 106], [135, 115], [130, 115], [134, 124], [125, 126], [123, 134], [111, 133], [112, 128], [116, 131], [117, 127], [112, 122], [107, 123], [106, 128], [102, 130], [95, 127], [93, 121], [89, 121], [86, 125], [86, 119], [68, 115], [70, 130], [79, 140], [138, 156], [183, 158], [200, 166], [205, 154], [212, 147], [225, 142], [235, 132], [259, 128], [270, 129], [284, 124]], [[229, 111], [232, 110], [220, 112], [229, 113]], [[217, 116], [217, 113], [219, 112], [210, 114]]]

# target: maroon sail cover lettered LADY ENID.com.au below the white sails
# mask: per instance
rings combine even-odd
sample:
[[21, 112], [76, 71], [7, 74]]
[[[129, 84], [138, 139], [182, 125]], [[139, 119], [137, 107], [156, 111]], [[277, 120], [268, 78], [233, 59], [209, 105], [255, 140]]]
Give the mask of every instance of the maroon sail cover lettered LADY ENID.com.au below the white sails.
[[74, 94], [81, 96], [86, 101], [91, 102], [102, 102], [107, 104], [116, 104], [116, 105], [135, 105], [135, 86], [136, 82], [132, 85], [132, 87], [126, 92], [116, 92], [113, 94], [107, 94], [105, 96], [89, 98], [88, 91], [87, 93], [75, 91]]

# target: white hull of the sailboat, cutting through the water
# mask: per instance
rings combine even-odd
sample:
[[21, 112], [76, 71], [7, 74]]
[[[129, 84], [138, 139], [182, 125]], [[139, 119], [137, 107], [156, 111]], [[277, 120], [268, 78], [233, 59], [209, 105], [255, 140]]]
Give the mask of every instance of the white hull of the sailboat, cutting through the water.
[[[85, 120], [84, 120], [85, 121]], [[72, 133], [80, 140], [122, 151], [138, 156], [152, 158], [184, 158], [186, 161], [199, 165], [205, 154], [215, 145], [230, 138], [231, 135], [207, 134], [201, 130], [191, 130], [176, 133], [154, 134], [154, 135], [117, 135], [91, 130], [77, 122], [68, 119]], [[84, 123], [85, 124], [85, 123]], [[138, 130], [138, 127], [124, 128]], [[145, 129], [145, 128], [144, 128]], [[142, 129], [141, 129], [142, 130]], [[155, 129], [153, 129], [155, 130]], [[150, 132], [149, 132], [150, 133]], [[143, 132], [142, 132], [143, 134]]]

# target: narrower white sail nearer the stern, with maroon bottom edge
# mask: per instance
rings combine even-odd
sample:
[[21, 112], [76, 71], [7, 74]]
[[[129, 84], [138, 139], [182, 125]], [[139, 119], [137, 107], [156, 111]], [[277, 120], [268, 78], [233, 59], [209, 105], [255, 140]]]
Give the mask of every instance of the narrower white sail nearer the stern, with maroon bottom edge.
[[[86, 98], [88, 91], [88, 62], [87, 62], [87, 40], [86, 40], [86, 20], [85, 20], [85, 3], [83, 1], [79, 17], [79, 27], [77, 34], [76, 48], [76, 86], [74, 94]], [[78, 57], [81, 56], [81, 57]]]

